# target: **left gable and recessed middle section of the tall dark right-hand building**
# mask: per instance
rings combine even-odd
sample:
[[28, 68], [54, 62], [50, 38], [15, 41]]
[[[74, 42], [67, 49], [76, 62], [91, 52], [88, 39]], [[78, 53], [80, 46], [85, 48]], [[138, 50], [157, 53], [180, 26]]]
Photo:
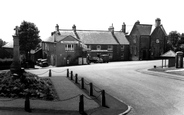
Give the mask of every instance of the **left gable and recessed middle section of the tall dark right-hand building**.
[[128, 36], [131, 60], [146, 60], [150, 57], [150, 33], [152, 25], [137, 21]]

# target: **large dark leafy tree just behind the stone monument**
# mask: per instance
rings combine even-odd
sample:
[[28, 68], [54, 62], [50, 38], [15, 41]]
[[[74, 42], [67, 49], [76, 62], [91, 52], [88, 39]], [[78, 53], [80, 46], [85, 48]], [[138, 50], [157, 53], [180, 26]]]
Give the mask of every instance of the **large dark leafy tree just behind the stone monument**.
[[41, 42], [39, 30], [34, 23], [23, 21], [19, 28], [20, 52], [29, 59], [29, 53]]

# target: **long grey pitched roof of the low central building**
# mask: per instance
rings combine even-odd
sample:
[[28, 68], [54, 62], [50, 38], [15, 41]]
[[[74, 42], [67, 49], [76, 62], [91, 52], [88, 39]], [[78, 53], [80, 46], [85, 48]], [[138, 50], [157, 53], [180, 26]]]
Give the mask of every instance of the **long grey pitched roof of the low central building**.
[[[84, 44], [118, 44], [110, 31], [103, 30], [60, 30], [61, 35], [75, 36]], [[129, 44], [123, 32], [114, 32], [120, 44]]]

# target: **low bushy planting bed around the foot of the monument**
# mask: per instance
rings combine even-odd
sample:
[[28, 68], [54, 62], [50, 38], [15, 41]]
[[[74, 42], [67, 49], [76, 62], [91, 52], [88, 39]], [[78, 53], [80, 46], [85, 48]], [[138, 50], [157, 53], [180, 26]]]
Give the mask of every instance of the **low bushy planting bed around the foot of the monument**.
[[13, 76], [11, 72], [0, 73], [0, 96], [25, 98], [29, 93], [33, 99], [55, 100], [56, 92], [50, 79], [24, 72], [23, 76]]

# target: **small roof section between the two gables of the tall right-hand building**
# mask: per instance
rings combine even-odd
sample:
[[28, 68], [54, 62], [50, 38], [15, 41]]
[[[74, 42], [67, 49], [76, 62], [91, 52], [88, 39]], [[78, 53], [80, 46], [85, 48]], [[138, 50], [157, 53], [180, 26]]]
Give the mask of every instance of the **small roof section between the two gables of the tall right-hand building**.
[[140, 35], [150, 35], [152, 25], [148, 24], [137, 24], [136, 25]]

